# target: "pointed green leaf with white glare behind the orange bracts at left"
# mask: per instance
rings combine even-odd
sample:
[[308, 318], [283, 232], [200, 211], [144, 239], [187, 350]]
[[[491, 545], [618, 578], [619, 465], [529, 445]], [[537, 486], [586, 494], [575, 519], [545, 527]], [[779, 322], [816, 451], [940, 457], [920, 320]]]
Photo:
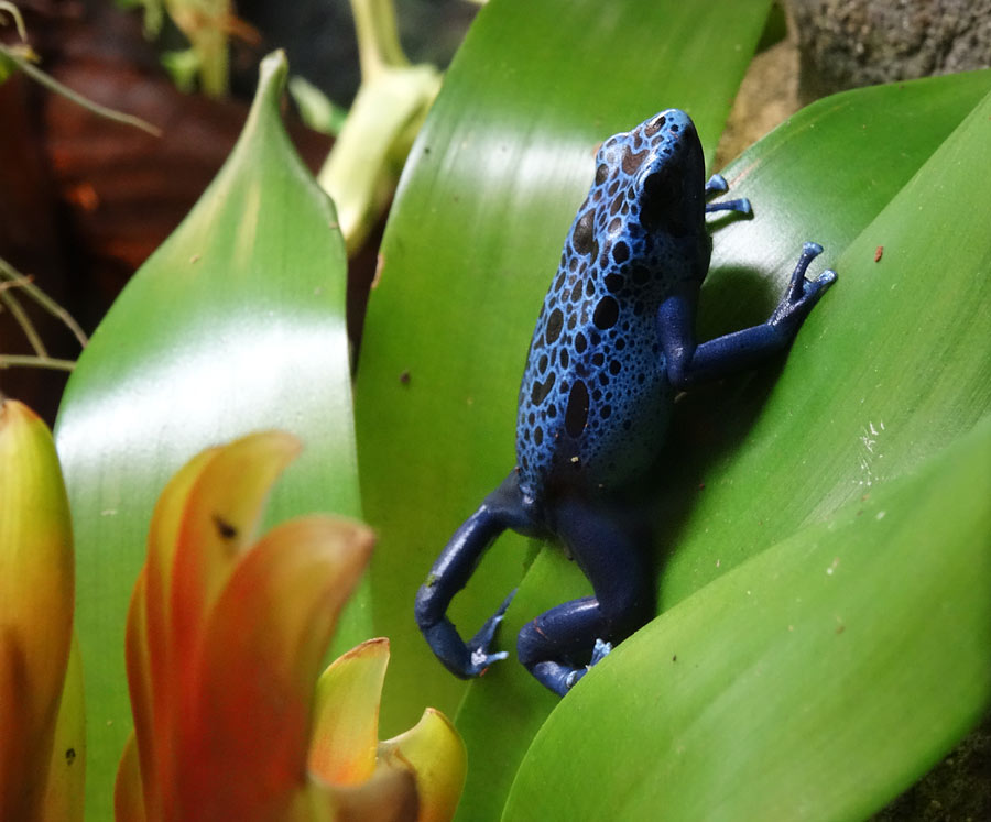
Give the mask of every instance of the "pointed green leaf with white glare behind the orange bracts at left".
[[[344, 244], [333, 205], [280, 122], [285, 73], [281, 54], [263, 63], [237, 147], [97, 329], [59, 412], [94, 819], [111, 814], [131, 727], [124, 621], [151, 511], [172, 473], [208, 445], [284, 428], [305, 450], [276, 485], [269, 522], [360, 512]], [[358, 599], [338, 649], [369, 634], [367, 596]]]

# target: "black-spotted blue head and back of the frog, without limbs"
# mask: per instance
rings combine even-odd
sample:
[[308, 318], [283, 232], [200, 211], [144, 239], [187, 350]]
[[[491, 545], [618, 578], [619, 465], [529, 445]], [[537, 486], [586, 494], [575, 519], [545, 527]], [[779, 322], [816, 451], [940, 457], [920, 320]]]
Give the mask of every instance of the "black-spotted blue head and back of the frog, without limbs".
[[[690, 128], [689, 147], [666, 139], [665, 124]], [[516, 469], [529, 495], [563, 485], [614, 487], [656, 456], [673, 398], [657, 306], [679, 280], [708, 267], [697, 143], [687, 116], [667, 111], [599, 151], [596, 182], [565, 241], [520, 388]], [[703, 210], [675, 215], [688, 228], [676, 227], [672, 237], [664, 209], [680, 195], [656, 183], [682, 185], [685, 164], [688, 184], [698, 178]]]

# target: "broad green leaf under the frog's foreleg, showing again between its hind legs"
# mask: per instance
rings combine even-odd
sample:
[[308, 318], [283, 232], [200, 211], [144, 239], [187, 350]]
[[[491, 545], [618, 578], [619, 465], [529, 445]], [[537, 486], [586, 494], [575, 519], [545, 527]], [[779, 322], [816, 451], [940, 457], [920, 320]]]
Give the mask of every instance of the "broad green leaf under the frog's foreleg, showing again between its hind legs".
[[[839, 95], [799, 112], [726, 169], [731, 190], [751, 198], [755, 216], [714, 231], [704, 339], [765, 319], [804, 240], [826, 246], [825, 262], [817, 261], [815, 270], [835, 265], [839, 281], [799, 335], [784, 371], [772, 363], [678, 403], [662, 459], [666, 468], [658, 471], [650, 500], [658, 611], [807, 518], [821, 518], [910, 469], [966, 431], [988, 407], [991, 383], [981, 353], [987, 346], [980, 342], [989, 333], [987, 296], [971, 287], [973, 299], [958, 300], [962, 285], [947, 283], [947, 277], [959, 284], [977, 278], [977, 270], [968, 267], [974, 261], [960, 249], [957, 267], [948, 273], [915, 252], [906, 256], [897, 250], [900, 238], [914, 232], [923, 246], [928, 243], [917, 228], [897, 233], [885, 228], [841, 253], [989, 88], [985, 72]], [[979, 167], [982, 161], [972, 162]], [[865, 168], [873, 171], [867, 183]], [[943, 215], [946, 207], [935, 208]], [[958, 199], [937, 222], [955, 237], [971, 238], [980, 254], [988, 242], [981, 213]], [[885, 252], [874, 263], [879, 244]], [[934, 288], [938, 303], [929, 296]], [[952, 342], [948, 328], [958, 336]], [[911, 329], [912, 344], [891, 344], [902, 329]], [[841, 350], [830, 340], [840, 340]], [[929, 351], [952, 358], [952, 377], [939, 376], [948, 360], [932, 359]], [[912, 429], [907, 447], [902, 428]], [[544, 551], [510, 610], [502, 646], [512, 647], [526, 620], [589, 592], [574, 565], [556, 549]], [[555, 698], [534, 690], [518, 665], [493, 667], [469, 689], [457, 722], [479, 768], [471, 774], [480, 780], [499, 763], [519, 761], [556, 705]], [[476, 785], [466, 801], [480, 791]]]

